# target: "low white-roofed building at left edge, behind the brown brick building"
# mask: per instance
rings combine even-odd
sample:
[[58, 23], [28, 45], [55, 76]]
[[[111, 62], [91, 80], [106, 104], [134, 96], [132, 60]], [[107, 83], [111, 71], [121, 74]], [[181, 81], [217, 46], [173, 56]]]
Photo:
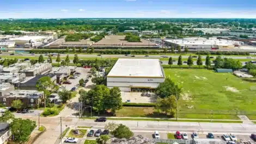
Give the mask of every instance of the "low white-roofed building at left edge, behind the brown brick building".
[[4, 83], [16, 83], [26, 78], [25, 73], [0, 73], [0, 80]]

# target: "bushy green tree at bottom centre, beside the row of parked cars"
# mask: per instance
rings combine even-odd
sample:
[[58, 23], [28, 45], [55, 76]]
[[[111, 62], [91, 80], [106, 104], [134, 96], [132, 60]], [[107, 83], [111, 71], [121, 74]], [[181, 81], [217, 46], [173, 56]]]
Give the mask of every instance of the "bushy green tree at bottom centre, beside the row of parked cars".
[[133, 136], [133, 133], [131, 132], [130, 128], [126, 127], [123, 124], [119, 124], [117, 129], [113, 130], [111, 134], [119, 139], [130, 139], [130, 137]]

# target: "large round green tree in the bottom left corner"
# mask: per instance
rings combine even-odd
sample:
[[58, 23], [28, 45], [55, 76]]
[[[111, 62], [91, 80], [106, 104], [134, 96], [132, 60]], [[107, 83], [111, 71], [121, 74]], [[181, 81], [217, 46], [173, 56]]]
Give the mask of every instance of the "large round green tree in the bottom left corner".
[[14, 141], [17, 143], [26, 143], [35, 127], [35, 121], [15, 118], [10, 124], [11, 134], [14, 135]]

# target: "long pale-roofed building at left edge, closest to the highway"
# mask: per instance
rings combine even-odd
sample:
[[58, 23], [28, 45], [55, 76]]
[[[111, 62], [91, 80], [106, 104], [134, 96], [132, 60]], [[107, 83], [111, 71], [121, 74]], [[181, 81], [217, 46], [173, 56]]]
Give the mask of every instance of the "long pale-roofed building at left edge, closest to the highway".
[[29, 66], [31, 66], [30, 62], [16, 63], [13, 65], [9, 65], [9, 67], [4, 67], [2, 73], [18, 73], [19, 71]]

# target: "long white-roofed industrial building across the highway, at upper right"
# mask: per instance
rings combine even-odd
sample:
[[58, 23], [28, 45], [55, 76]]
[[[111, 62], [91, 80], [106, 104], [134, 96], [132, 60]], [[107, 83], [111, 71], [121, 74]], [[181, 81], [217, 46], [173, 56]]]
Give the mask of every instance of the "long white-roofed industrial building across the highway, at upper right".
[[180, 46], [181, 48], [189, 49], [229, 49], [243, 45], [241, 41], [217, 39], [217, 37], [210, 37], [209, 39], [203, 37], [187, 37], [176, 40], [164, 40], [167, 46]]

